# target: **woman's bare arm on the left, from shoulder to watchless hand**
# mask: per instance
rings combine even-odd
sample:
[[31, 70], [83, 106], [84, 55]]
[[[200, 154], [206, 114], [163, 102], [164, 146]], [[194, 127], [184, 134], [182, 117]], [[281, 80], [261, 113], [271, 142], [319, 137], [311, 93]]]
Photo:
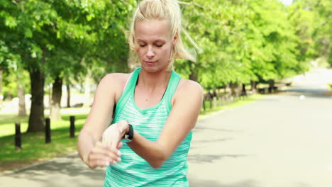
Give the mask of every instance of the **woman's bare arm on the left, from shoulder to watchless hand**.
[[77, 143], [79, 156], [90, 169], [121, 161], [119, 159], [121, 153], [118, 151], [121, 144], [116, 149], [100, 142], [104, 130], [112, 120], [116, 90], [123, 89], [121, 84], [118, 84], [120, 77], [120, 74], [108, 74], [101, 79], [94, 95], [91, 111], [79, 132]]

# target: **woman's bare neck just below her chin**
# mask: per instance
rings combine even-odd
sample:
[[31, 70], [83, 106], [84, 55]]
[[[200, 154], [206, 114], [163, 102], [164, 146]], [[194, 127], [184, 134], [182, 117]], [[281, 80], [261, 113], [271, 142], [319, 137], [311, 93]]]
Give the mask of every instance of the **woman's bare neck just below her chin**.
[[171, 73], [172, 72], [166, 71], [149, 73], [142, 69], [140, 71], [140, 76], [138, 77], [138, 85], [142, 86], [149, 92], [153, 92], [155, 89], [160, 87], [165, 89], [167, 87], [168, 81], [170, 81]]

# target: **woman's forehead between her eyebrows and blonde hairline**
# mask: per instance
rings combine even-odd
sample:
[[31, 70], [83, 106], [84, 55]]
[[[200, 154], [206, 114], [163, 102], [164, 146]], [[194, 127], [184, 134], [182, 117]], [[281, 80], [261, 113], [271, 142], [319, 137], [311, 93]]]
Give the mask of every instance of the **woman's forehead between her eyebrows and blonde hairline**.
[[136, 40], [169, 40], [170, 22], [166, 20], [153, 20], [135, 23]]

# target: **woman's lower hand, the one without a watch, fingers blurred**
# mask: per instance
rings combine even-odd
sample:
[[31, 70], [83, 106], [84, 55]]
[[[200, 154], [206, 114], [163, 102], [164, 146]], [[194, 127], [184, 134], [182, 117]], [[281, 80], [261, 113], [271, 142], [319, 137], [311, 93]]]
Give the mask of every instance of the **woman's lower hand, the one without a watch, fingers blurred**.
[[109, 166], [109, 164], [121, 162], [121, 152], [119, 149], [122, 145], [123, 143], [119, 142], [118, 147], [113, 148], [98, 141], [87, 155], [87, 158], [84, 159], [84, 162], [90, 169], [106, 167]]

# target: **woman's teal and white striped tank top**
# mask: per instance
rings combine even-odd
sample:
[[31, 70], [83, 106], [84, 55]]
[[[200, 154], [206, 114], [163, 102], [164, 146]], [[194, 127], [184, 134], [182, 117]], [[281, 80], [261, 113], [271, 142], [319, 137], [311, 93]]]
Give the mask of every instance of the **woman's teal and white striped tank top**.
[[[134, 91], [139, 73], [140, 68], [135, 69], [131, 74], [116, 105], [112, 124], [118, 123], [120, 120], [127, 120], [140, 135], [150, 141], [157, 141], [172, 109], [171, 98], [181, 77], [172, 71], [167, 89], [160, 102], [151, 108], [142, 110], [136, 106], [134, 101]], [[192, 131], [158, 169], [153, 169], [145, 159], [138, 156], [124, 143], [120, 149], [122, 161], [107, 167], [104, 187], [189, 186], [187, 154], [191, 140]]]

